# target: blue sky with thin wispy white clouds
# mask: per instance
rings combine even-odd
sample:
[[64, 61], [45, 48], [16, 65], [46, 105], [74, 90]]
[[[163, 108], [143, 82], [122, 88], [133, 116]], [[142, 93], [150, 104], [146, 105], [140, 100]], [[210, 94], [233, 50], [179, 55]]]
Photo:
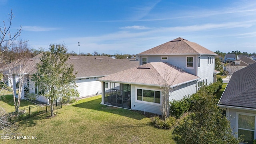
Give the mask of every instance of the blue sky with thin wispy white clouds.
[[182, 37], [209, 50], [256, 52], [255, 0], [0, 0], [0, 26], [32, 48], [138, 54]]

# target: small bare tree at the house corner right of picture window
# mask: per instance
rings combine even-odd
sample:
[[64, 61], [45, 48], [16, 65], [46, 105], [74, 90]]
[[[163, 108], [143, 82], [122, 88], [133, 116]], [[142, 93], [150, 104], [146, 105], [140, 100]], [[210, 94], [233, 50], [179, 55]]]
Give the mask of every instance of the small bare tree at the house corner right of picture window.
[[177, 78], [180, 76], [182, 69], [167, 62], [164, 62], [164, 65], [158, 68], [158, 83], [162, 92], [162, 118], [166, 120], [169, 116], [170, 110], [170, 95], [178, 86]]

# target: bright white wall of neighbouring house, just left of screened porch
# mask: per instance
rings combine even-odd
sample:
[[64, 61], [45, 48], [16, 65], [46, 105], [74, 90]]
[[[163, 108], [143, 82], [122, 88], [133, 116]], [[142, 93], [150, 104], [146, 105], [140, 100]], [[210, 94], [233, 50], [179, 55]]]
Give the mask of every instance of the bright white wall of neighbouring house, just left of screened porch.
[[[97, 77], [96, 79], [101, 78]], [[94, 78], [89, 78], [86, 80], [86, 78], [82, 78], [82, 80], [76, 79], [76, 84], [78, 85], [78, 88], [76, 88], [80, 94], [80, 97], [83, 96], [90, 96], [94, 95], [96, 93], [100, 94], [101, 91], [101, 82], [96, 81]]]

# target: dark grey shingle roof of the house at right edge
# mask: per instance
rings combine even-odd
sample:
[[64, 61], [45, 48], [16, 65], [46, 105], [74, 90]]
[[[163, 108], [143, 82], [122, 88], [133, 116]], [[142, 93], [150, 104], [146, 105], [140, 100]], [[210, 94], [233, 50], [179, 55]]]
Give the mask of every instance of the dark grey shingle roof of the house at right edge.
[[256, 63], [233, 73], [218, 105], [256, 108]]

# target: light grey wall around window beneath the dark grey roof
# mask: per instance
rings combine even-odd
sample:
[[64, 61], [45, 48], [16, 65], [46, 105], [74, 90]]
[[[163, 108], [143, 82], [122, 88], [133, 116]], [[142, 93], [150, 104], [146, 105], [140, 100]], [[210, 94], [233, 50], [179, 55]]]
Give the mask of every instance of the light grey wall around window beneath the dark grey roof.
[[238, 134], [236, 134], [236, 112], [245, 112], [250, 114], [256, 114], [256, 111], [253, 110], [238, 110], [238, 109], [232, 109], [228, 108], [226, 112], [226, 117], [230, 121], [230, 127], [232, 128], [232, 133], [236, 138], [238, 137]]

